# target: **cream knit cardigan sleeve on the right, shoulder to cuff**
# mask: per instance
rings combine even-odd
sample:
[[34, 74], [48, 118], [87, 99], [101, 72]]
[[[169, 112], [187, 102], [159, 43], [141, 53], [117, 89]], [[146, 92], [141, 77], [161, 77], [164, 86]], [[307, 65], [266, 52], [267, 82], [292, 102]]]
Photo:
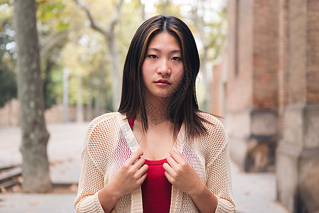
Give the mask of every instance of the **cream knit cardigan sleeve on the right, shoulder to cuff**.
[[206, 144], [206, 186], [218, 198], [216, 213], [236, 212], [230, 175], [228, 138], [223, 124], [214, 116], [203, 114], [208, 135]]

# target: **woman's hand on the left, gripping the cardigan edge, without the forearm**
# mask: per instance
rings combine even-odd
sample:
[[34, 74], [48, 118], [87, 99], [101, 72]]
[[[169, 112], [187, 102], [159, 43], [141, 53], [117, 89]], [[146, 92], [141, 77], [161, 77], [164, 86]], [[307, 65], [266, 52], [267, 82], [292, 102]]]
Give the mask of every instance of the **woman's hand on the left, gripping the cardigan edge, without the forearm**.
[[133, 192], [144, 182], [148, 165], [144, 164], [145, 158], [141, 157], [142, 154], [142, 151], [135, 151], [109, 182], [120, 197]]

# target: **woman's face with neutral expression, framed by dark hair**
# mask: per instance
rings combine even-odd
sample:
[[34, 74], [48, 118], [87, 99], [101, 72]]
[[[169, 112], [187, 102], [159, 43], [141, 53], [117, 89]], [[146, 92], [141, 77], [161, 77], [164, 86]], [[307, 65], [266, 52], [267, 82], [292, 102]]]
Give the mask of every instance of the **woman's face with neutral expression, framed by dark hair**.
[[146, 97], [169, 97], [179, 88], [183, 75], [184, 64], [177, 38], [166, 32], [155, 35], [142, 64]]

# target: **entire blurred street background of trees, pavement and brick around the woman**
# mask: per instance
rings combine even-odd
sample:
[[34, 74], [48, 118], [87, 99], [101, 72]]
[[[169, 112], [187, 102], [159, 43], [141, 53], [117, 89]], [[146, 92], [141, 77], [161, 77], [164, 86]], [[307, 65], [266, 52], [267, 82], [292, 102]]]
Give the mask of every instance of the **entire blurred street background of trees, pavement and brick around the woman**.
[[0, 212], [74, 212], [88, 122], [118, 109], [130, 40], [157, 14], [196, 38], [237, 212], [319, 212], [316, 0], [0, 0]]

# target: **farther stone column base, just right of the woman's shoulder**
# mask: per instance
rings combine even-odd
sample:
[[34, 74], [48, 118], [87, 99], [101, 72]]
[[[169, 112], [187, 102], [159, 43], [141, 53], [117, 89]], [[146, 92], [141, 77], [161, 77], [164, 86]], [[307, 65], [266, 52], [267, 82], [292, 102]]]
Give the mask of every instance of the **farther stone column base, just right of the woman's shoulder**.
[[272, 110], [228, 113], [230, 157], [246, 172], [274, 171], [277, 123]]

